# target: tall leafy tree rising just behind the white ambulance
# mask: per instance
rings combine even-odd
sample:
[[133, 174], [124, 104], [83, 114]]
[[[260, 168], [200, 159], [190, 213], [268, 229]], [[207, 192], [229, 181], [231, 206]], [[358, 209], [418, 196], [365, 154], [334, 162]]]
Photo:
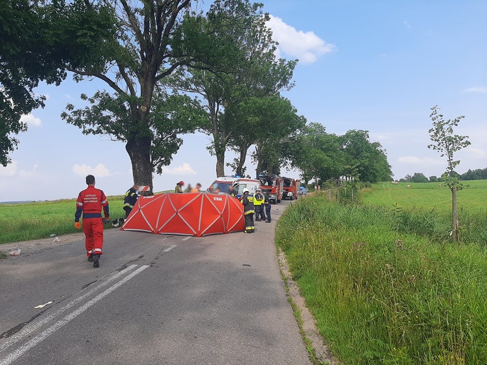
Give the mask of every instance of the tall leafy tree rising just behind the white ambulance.
[[[215, 61], [212, 71], [187, 68], [173, 75], [167, 84], [196, 95], [195, 99], [207, 113], [207, 123], [201, 130], [212, 138], [208, 149], [216, 156], [217, 176], [225, 175], [225, 152], [231, 140], [252, 124], [249, 116], [242, 113], [242, 105], [293, 86], [291, 78], [296, 61], [275, 59], [276, 44], [266, 27], [267, 20], [262, 4], [217, 0], [206, 14], [205, 22], [197, 25], [201, 33], [212, 35], [213, 45], [207, 52], [224, 50], [224, 57]], [[247, 138], [241, 143], [249, 145], [253, 141]]]

